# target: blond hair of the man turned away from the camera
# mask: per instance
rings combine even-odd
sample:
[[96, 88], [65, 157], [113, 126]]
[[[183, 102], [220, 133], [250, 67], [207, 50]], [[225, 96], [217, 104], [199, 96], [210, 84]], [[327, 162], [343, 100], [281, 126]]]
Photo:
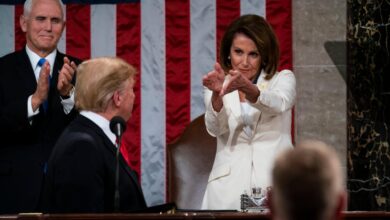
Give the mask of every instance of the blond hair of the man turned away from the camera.
[[75, 106], [78, 110], [104, 112], [114, 92], [134, 80], [136, 69], [120, 58], [84, 61], [76, 72]]

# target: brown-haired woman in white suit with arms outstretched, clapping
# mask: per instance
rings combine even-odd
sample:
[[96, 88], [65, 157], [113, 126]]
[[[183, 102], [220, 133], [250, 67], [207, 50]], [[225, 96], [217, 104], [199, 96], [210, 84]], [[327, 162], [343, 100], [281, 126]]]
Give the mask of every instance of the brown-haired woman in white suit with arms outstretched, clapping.
[[278, 60], [264, 18], [241, 16], [226, 30], [220, 64], [203, 78], [206, 127], [217, 138], [203, 209], [240, 209], [240, 195], [270, 186], [274, 158], [292, 147], [295, 77], [277, 72]]

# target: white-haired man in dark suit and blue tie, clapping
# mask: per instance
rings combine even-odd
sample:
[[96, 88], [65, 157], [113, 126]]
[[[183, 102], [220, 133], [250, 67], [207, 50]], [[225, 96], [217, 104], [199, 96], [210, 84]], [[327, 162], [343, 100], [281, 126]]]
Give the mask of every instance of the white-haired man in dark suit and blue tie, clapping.
[[37, 211], [46, 161], [76, 114], [79, 60], [57, 51], [61, 0], [27, 0], [20, 25], [26, 47], [0, 58], [0, 213]]

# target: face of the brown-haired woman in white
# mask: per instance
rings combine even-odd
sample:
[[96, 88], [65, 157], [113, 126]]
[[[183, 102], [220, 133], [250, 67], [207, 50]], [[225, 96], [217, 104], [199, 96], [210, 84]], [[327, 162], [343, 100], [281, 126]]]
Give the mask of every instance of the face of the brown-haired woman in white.
[[261, 63], [260, 52], [255, 42], [246, 35], [237, 33], [230, 47], [230, 61], [234, 70], [253, 80]]

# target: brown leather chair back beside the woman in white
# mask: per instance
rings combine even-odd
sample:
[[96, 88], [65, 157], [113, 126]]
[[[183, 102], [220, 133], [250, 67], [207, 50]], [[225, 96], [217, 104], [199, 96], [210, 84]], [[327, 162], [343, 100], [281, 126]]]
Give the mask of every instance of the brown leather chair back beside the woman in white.
[[217, 148], [207, 133], [204, 114], [168, 144], [168, 200], [179, 209], [200, 209]]

